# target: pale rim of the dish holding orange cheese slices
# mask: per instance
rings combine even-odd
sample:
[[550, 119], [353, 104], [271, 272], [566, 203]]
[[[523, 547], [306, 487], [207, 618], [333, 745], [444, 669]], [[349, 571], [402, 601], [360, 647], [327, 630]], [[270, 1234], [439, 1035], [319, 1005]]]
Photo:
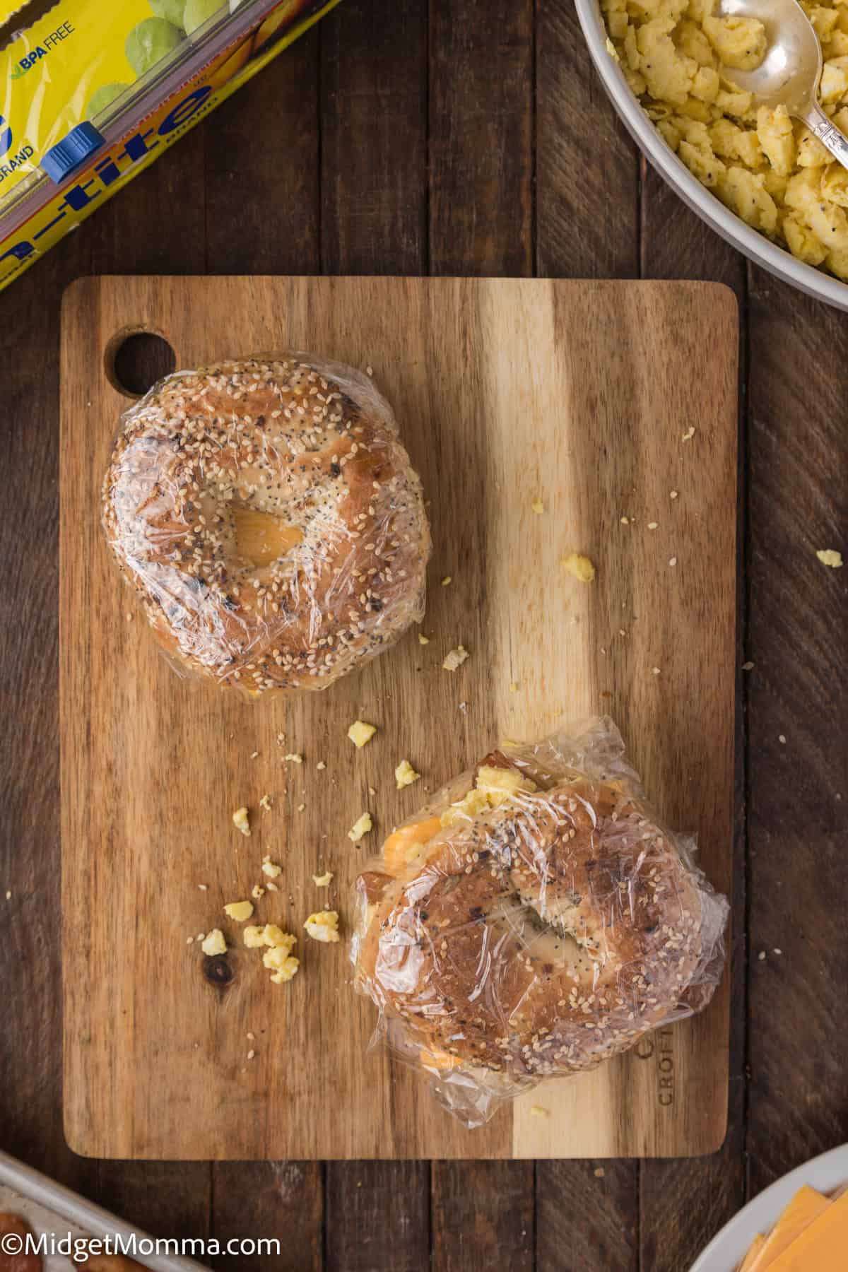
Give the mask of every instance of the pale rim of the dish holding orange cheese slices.
[[823, 1152], [791, 1170], [777, 1183], [749, 1201], [739, 1215], [713, 1236], [707, 1249], [693, 1263], [690, 1272], [735, 1272], [745, 1258], [758, 1233], [768, 1233], [795, 1197], [802, 1184], [819, 1192], [835, 1192], [848, 1183], [848, 1144]]

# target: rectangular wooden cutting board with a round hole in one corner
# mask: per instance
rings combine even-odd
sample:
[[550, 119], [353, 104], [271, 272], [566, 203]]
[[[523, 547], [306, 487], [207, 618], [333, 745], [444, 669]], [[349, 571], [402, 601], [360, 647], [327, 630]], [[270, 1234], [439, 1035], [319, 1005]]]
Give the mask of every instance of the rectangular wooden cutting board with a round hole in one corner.
[[[289, 705], [253, 706], [170, 670], [99, 528], [127, 406], [107, 364], [116, 337], [137, 328], [163, 333], [179, 366], [272, 349], [373, 366], [430, 500], [428, 645], [412, 631], [359, 675]], [[728, 892], [736, 345], [732, 295], [701, 282], [107, 277], [70, 289], [60, 604], [65, 1127], [76, 1152], [718, 1147], [727, 978], [703, 1015], [469, 1132], [414, 1072], [369, 1052], [375, 1011], [350, 987], [346, 948], [310, 943], [301, 925], [329, 903], [347, 926], [369, 848], [425, 790], [500, 738], [590, 712], [618, 721], [652, 799], [697, 829], [703, 868]], [[571, 551], [595, 561], [594, 584], [559, 567]], [[460, 642], [470, 658], [450, 674], [441, 661]], [[379, 725], [361, 752], [346, 736], [359, 716]], [[398, 792], [402, 758], [423, 776]], [[240, 804], [249, 840], [231, 824]], [[357, 848], [347, 831], [365, 809], [376, 829]], [[284, 873], [259, 917], [301, 934], [289, 986], [271, 985], [221, 913], [249, 895], [264, 854]], [[324, 869], [329, 893], [311, 881]], [[233, 941], [217, 960], [187, 944], [214, 926]]]

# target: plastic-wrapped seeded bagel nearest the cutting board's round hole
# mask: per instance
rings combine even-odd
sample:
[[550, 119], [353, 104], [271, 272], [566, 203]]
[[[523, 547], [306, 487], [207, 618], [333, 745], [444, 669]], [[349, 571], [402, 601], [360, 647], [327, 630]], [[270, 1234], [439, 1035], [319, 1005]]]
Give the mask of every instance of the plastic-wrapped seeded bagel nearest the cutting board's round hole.
[[392, 408], [309, 354], [167, 377], [121, 417], [103, 528], [172, 663], [322, 689], [420, 622], [430, 528]]

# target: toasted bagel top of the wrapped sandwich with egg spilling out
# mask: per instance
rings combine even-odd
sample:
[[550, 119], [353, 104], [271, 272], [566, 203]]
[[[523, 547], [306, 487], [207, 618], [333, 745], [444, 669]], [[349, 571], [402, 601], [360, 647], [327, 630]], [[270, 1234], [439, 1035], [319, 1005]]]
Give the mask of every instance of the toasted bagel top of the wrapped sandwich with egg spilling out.
[[361, 894], [359, 983], [427, 1052], [512, 1081], [591, 1068], [715, 987], [698, 878], [617, 784], [521, 791]]

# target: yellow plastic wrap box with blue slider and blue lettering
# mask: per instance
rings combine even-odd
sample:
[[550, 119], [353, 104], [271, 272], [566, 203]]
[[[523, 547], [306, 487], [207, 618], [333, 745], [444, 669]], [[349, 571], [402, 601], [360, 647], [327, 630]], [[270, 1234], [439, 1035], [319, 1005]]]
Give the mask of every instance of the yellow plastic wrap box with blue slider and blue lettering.
[[338, 3], [0, 0], [0, 290]]

